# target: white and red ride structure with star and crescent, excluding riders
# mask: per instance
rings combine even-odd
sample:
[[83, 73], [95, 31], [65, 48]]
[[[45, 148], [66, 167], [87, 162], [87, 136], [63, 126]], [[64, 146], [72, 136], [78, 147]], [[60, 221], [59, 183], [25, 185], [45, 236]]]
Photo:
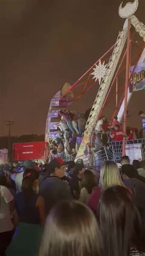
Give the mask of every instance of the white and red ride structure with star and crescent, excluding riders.
[[[123, 130], [125, 134], [127, 126], [127, 105], [133, 92], [131, 85], [132, 83], [135, 84], [136, 81], [143, 80], [145, 77], [144, 70], [141, 71], [142, 73], [137, 73], [136, 71], [138, 63], [145, 62], [145, 26], [133, 15], [137, 7], [138, 0], [134, 0], [132, 3], [128, 2], [124, 7], [122, 7], [121, 3], [119, 6], [119, 15], [125, 18], [125, 23], [123, 29], [118, 34], [115, 44], [72, 86], [67, 84], [68, 86], [65, 86], [65, 90], [59, 90], [59, 96], [56, 94], [52, 99], [58, 100], [59, 103], [55, 105], [57, 108], [52, 107], [51, 100], [46, 121], [46, 142], [51, 138], [51, 112], [56, 109], [68, 108], [74, 100], [78, 100], [97, 83], [99, 83], [99, 90], [91, 108], [76, 157], [84, 154], [84, 149], [91, 140], [96, 122], [101, 117], [102, 111], [110, 101], [114, 101], [114, 111], [110, 123], [115, 115], [117, 115], [118, 121], [121, 122], [121, 119], [123, 119]], [[135, 72], [136, 77], [134, 76], [132, 79]], [[81, 91], [79, 95], [76, 95], [75, 89], [78, 87]], [[145, 86], [142, 89], [144, 88]], [[126, 138], [124, 136], [122, 155], [125, 155], [125, 143]]]

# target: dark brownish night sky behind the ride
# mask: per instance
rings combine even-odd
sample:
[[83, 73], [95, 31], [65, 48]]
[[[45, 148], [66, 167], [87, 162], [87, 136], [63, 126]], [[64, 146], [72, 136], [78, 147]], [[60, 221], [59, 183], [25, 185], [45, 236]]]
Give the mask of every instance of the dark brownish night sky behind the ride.
[[[54, 93], [65, 82], [73, 84], [115, 43], [125, 22], [118, 15], [120, 2], [0, 1], [0, 135], [7, 134], [9, 119], [15, 121], [13, 135], [45, 132]], [[143, 23], [144, 10], [145, 0], [139, 0], [136, 16]], [[73, 108], [84, 112], [96, 92], [94, 87]], [[132, 97], [134, 116], [144, 108], [143, 94]]]

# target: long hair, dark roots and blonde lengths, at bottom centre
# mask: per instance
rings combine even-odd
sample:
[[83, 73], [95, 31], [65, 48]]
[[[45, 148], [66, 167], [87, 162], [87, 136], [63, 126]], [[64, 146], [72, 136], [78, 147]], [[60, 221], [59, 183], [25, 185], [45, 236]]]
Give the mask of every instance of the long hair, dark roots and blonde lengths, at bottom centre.
[[103, 256], [92, 211], [78, 201], [61, 201], [50, 211], [39, 256]]

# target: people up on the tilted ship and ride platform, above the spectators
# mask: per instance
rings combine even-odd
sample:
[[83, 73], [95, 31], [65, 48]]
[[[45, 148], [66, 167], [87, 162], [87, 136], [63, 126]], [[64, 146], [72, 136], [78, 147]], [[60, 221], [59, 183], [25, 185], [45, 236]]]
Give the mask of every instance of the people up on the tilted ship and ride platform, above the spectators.
[[[142, 120], [144, 120], [143, 111], [139, 111], [138, 114]], [[82, 138], [86, 119], [84, 118], [84, 115], [80, 113], [67, 110], [60, 110], [59, 116], [61, 117], [61, 121], [58, 124], [58, 131], [50, 145], [49, 159], [51, 161], [54, 157], [61, 157], [63, 160], [70, 161], [75, 158], [78, 151], [75, 146], [76, 141], [75, 143], [72, 143], [72, 140], [74, 137]], [[109, 125], [106, 116], [102, 116], [96, 123], [94, 130], [95, 137], [93, 139], [95, 142], [95, 152], [99, 151], [103, 145], [110, 146], [110, 142], [112, 141], [123, 141], [124, 136], [126, 140], [130, 141], [143, 138], [143, 131], [144, 129], [141, 129], [140, 132], [138, 132], [136, 128], [127, 126], [126, 132], [124, 132], [121, 123], [117, 120], [117, 116], [113, 117], [111, 125]], [[80, 143], [78, 147], [80, 146]], [[87, 152], [88, 149], [86, 146], [84, 154]]]

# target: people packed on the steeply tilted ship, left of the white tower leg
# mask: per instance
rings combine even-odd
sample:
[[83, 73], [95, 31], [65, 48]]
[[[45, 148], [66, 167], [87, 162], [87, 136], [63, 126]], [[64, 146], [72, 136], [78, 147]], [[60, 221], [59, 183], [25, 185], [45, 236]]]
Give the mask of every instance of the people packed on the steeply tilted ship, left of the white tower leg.
[[73, 137], [81, 137], [85, 130], [86, 119], [83, 114], [68, 110], [60, 110], [61, 120], [50, 146], [50, 160], [58, 156], [67, 161], [71, 160], [71, 142]]

